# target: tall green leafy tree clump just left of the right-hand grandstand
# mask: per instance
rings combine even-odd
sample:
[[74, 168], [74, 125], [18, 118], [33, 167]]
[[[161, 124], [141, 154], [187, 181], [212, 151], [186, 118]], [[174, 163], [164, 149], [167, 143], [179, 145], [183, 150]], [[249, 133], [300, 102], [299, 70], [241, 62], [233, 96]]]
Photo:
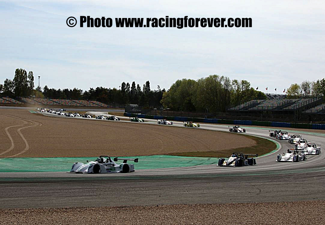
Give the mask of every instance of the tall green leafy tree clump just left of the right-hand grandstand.
[[175, 111], [218, 112], [253, 99], [266, 99], [266, 95], [246, 80], [210, 75], [197, 81], [177, 80], [163, 93], [161, 103]]

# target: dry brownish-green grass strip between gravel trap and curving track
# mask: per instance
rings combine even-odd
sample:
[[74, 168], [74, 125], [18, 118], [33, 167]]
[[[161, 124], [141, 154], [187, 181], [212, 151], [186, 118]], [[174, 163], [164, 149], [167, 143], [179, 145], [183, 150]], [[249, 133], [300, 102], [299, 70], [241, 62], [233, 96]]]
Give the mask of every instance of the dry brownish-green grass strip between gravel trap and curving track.
[[244, 154], [258, 154], [258, 156], [262, 156], [267, 154], [274, 149], [276, 149], [277, 145], [269, 141], [265, 138], [259, 138], [254, 136], [246, 135], [245, 137], [253, 139], [256, 144], [249, 147], [241, 147], [241, 148], [232, 148], [225, 149], [220, 151], [206, 151], [206, 152], [182, 152], [182, 153], [169, 153], [166, 155], [170, 156], [189, 156], [189, 157], [229, 157], [233, 152], [242, 152]]

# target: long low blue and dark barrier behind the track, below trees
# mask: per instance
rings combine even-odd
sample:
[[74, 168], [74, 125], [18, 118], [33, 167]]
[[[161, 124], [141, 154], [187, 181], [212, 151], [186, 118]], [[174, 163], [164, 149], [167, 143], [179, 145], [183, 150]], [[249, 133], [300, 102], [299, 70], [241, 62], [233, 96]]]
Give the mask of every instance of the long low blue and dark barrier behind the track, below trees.
[[256, 120], [231, 120], [231, 119], [206, 119], [206, 118], [188, 118], [188, 117], [163, 117], [151, 116], [144, 114], [133, 114], [124, 112], [126, 117], [139, 117], [144, 119], [168, 119], [175, 121], [193, 121], [198, 123], [218, 123], [218, 124], [234, 124], [234, 125], [253, 125], [266, 127], [290, 127], [290, 128], [304, 128], [325, 130], [325, 124], [311, 124], [311, 123], [284, 123], [284, 122], [270, 122], [270, 121], [256, 121]]

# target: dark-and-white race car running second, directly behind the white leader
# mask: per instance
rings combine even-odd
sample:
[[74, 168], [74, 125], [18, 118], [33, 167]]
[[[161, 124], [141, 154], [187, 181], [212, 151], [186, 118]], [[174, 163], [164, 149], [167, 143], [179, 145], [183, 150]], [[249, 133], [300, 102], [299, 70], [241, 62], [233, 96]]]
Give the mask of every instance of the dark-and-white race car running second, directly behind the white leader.
[[255, 156], [257, 154], [243, 154], [241, 152], [234, 152], [226, 161], [225, 158], [219, 158], [218, 166], [222, 167], [241, 167], [241, 166], [253, 166], [256, 164], [254, 158], [248, 158], [248, 156]]

